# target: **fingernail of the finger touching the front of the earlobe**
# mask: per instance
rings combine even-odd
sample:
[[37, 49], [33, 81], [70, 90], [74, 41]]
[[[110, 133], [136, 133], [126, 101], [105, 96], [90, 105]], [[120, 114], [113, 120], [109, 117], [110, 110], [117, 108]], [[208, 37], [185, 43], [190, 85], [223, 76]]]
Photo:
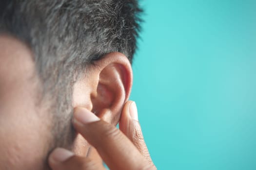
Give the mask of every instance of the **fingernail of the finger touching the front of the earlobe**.
[[79, 107], [75, 109], [73, 120], [75, 123], [87, 124], [98, 120], [99, 118], [95, 114], [85, 108]]

